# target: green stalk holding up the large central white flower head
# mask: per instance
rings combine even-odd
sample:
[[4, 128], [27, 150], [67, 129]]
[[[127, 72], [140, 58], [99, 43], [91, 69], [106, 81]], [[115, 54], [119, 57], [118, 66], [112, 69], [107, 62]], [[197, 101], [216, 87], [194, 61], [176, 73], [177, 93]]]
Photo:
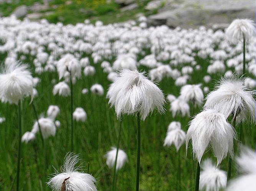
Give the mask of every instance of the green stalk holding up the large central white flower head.
[[137, 113], [137, 165], [136, 165], [136, 191], [139, 191], [140, 181], [140, 113]]

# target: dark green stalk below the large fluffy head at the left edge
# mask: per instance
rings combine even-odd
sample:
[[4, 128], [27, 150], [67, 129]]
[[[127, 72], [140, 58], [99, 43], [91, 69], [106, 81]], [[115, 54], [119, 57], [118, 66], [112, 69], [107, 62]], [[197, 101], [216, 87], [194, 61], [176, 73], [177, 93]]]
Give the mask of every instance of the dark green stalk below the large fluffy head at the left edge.
[[18, 135], [18, 161], [17, 161], [17, 186], [16, 190], [19, 191], [20, 181], [20, 158], [21, 158], [21, 102], [18, 102], [18, 122], [19, 122], [19, 135]]

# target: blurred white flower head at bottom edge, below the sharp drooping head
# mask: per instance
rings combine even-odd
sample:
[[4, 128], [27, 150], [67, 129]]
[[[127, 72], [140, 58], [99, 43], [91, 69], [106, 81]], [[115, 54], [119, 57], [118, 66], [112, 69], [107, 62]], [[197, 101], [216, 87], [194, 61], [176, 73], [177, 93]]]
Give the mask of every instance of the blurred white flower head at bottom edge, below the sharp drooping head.
[[204, 160], [201, 169], [199, 190], [220, 191], [226, 188], [227, 173], [216, 168], [211, 159]]

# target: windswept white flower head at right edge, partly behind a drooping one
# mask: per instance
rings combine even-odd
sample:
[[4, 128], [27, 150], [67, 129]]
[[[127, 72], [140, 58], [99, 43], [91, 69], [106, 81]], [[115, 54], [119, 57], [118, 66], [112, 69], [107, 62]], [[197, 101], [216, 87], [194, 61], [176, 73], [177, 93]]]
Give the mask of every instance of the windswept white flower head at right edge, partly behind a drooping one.
[[253, 91], [244, 86], [244, 80], [237, 76], [222, 78], [215, 90], [207, 95], [204, 108], [221, 112], [226, 118], [235, 115], [238, 122], [246, 116], [254, 120]]

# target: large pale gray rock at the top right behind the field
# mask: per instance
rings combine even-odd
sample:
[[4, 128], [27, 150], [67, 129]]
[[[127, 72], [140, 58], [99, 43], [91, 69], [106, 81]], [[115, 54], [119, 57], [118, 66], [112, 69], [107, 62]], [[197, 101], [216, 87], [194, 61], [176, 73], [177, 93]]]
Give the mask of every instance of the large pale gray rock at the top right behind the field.
[[254, 19], [254, 0], [168, 0], [156, 15], [149, 16], [149, 25], [197, 28], [204, 25], [221, 28], [236, 18]]

